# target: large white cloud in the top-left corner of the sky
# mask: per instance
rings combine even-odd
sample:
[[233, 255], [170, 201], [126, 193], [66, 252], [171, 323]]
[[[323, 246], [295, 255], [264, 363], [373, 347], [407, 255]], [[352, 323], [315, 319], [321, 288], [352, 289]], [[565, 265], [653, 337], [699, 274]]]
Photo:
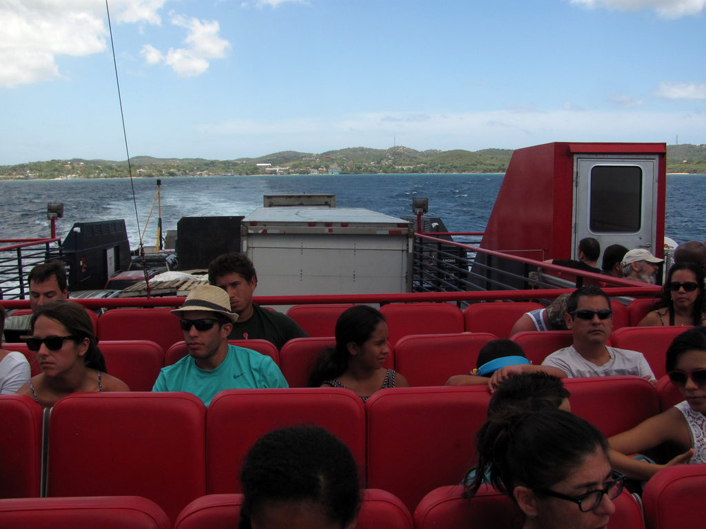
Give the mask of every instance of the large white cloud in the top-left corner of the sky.
[[[116, 22], [160, 23], [165, 0], [113, 0]], [[58, 78], [56, 57], [106, 48], [105, 4], [95, 0], [1, 0], [0, 86]]]

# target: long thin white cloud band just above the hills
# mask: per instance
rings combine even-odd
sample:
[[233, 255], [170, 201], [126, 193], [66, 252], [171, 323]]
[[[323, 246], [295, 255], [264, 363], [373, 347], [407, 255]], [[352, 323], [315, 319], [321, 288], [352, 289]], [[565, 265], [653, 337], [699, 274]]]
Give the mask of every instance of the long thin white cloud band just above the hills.
[[[706, 115], [635, 110], [551, 111], [498, 110], [434, 114], [379, 112], [286, 120], [228, 120], [203, 123], [198, 132], [211, 145], [237, 142], [241, 152], [265, 154], [283, 149], [323, 152], [350, 145], [415, 149], [515, 149], [554, 141], [663, 142], [680, 137], [701, 138]], [[258, 155], [259, 155], [258, 154]]]

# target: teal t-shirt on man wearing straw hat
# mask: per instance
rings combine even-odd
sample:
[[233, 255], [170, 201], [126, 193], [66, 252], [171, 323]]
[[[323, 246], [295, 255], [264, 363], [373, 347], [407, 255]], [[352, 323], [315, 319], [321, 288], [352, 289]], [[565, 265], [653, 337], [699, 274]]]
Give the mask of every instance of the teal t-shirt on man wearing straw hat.
[[269, 356], [244, 347], [228, 346], [228, 353], [214, 370], [198, 367], [190, 355], [174, 365], [162, 367], [152, 391], [186, 391], [208, 406], [224, 389], [289, 387]]

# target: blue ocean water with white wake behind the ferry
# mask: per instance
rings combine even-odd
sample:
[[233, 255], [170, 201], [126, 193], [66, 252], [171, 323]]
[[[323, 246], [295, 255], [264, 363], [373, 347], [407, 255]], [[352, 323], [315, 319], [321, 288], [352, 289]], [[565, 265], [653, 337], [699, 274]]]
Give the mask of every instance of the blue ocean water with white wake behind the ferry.
[[[393, 217], [412, 214], [413, 197], [428, 197], [429, 214], [441, 217], [450, 231], [483, 231], [502, 181], [501, 174], [162, 178], [162, 230], [176, 229], [181, 217], [249, 214], [262, 205], [263, 195], [333, 193], [339, 207], [366, 207]], [[705, 185], [706, 175], [667, 177], [665, 232], [678, 243], [706, 238]], [[133, 248], [140, 233], [145, 245], [152, 245], [156, 204], [149, 223], [148, 214], [156, 190], [154, 178], [1, 181], [6, 207], [0, 212], [0, 238], [49, 236], [47, 202], [64, 202], [64, 219], [56, 229], [62, 238], [73, 222], [125, 219]]]

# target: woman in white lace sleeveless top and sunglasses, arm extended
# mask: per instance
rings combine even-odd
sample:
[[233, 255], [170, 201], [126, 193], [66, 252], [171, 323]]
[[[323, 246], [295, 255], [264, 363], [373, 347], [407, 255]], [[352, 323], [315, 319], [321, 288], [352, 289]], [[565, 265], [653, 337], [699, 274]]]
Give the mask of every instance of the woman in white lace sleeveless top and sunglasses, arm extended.
[[[695, 327], [676, 336], [666, 350], [666, 372], [684, 401], [609, 439], [611, 462], [630, 478], [648, 480], [664, 466], [706, 463], [705, 327]], [[676, 445], [683, 454], [664, 465], [625, 455], [643, 453], [664, 443]]]

